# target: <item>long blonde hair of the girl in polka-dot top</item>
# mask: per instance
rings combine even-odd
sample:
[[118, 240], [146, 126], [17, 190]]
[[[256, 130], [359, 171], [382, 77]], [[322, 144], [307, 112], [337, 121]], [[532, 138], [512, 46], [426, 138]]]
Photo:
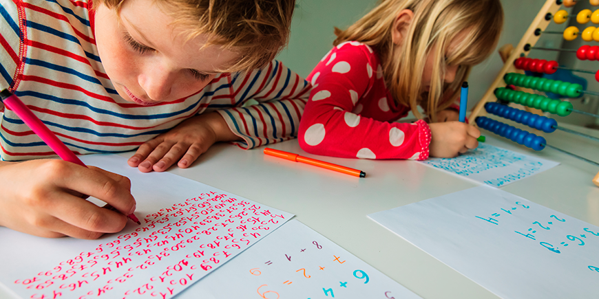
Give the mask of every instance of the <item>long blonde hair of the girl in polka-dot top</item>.
[[[398, 50], [392, 41], [392, 29], [399, 12], [406, 9], [412, 10], [414, 16]], [[381, 0], [347, 30], [335, 28], [337, 39], [333, 44], [359, 41], [374, 48], [381, 58], [387, 88], [395, 101], [410, 107], [417, 118], [423, 118], [417, 107], [423, 100], [421, 79], [426, 57], [437, 45], [432, 53], [436, 61], [428, 101], [421, 105], [430, 120], [436, 122], [437, 111], [456, 100], [456, 91], [472, 66], [492, 53], [502, 27], [503, 9], [499, 0]], [[463, 39], [445, 57], [458, 35]], [[446, 64], [460, 65], [454, 82], [449, 85], [443, 82]]]

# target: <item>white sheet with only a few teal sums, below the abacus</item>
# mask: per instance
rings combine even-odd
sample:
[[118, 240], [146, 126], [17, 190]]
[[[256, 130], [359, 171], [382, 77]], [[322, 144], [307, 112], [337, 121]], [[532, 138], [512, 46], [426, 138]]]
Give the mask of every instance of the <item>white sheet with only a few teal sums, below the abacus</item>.
[[501, 298], [599, 294], [599, 227], [503, 190], [483, 185], [368, 217]]

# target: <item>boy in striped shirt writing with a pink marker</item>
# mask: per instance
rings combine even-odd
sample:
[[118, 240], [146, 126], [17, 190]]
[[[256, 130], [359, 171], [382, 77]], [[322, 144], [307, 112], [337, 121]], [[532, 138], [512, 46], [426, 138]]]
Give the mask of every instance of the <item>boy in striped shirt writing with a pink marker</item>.
[[[0, 0], [0, 89], [75, 153], [139, 146], [129, 165], [162, 171], [189, 166], [214, 142], [253, 148], [297, 135], [310, 86], [270, 62], [293, 0], [14, 2]], [[261, 104], [241, 108], [251, 98]], [[56, 159], [8, 162], [54, 155], [12, 111], [0, 137], [0, 225], [96, 239], [135, 210], [120, 175]]]

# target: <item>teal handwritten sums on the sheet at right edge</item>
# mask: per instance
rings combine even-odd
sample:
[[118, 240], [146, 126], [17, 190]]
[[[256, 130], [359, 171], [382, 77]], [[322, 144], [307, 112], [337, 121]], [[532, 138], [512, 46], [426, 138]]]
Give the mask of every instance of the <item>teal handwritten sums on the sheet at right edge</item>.
[[[502, 215], [504, 215], [504, 216], [514, 215], [514, 213], [516, 213], [516, 212], [521, 212], [521, 210], [527, 210], [529, 208], [530, 208], [530, 206], [527, 206], [524, 203], [521, 203], [521, 201], [516, 201], [514, 206], [501, 208], [502, 212], [495, 212], [495, 213], [491, 214], [492, 217], [480, 217], [480, 216], [475, 216], [475, 217], [478, 219], [481, 219], [483, 221], [487, 221], [488, 223], [491, 223], [494, 225], [499, 225], [498, 218], [501, 217]], [[518, 210], [518, 211], [516, 211], [516, 210]], [[496, 218], [493, 218], [493, 217], [496, 217]], [[555, 254], [562, 254], [562, 253], [568, 252], [569, 249], [571, 248], [571, 247], [568, 247], [570, 245], [573, 245], [574, 247], [585, 246], [585, 244], [587, 244], [587, 242], [585, 242], [585, 240], [587, 240], [588, 238], [596, 238], [599, 236], [599, 232], [593, 232], [593, 230], [590, 230], [589, 228], [582, 228], [582, 232], [580, 232], [580, 234], [568, 234], [566, 236], [560, 237], [560, 239], [563, 238], [563, 240], [564, 240], [562, 242], [560, 242], [561, 240], [558, 240], [558, 241], [551, 241], [551, 243], [549, 243], [549, 242], [545, 242], [547, 240], [543, 240], [543, 241], [537, 240], [537, 236], [534, 235], [537, 232], [551, 230], [551, 228], [556, 228], [557, 225], [560, 225], [560, 224], [563, 224], [566, 222], [566, 219], [560, 219], [556, 215], [551, 215], [551, 216], [547, 217], [547, 219], [538, 219], [538, 220], [540, 220], [540, 221], [533, 221], [530, 224], [531, 228], [528, 228], [527, 230], [525, 228], [523, 228], [523, 232], [518, 232], [518, 230], [514, 230], [514, 233], [520, 234], [521, 236], [523, 236], [527, 239], [530, 239], [532, 241], [540, 241], [539, 242], [540, 246], [544, 247], [545, 249], [549, 250], [550, 252], [554, 252]], [[554, 244], [556, 244], [556, 245], [554, 245]], [[561, 250], [560, 250], [560, 246], [561, 246]], [[599, 267], [594, 267], [592, 265], [589, 265], [588, 268], [591, 271], [599, 272]]]

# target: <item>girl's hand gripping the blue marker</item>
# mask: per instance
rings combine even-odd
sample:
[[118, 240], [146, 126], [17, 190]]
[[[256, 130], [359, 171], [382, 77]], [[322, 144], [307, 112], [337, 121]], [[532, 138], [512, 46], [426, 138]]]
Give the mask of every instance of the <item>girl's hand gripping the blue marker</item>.
[[474, 126], [463, 122], [437, 122], [429, 124], [430, 156], [439, 158], [456, 157], [465, 153], [470, 148], [479, 146], [476, 138], [481, 136], [481, 131]]

